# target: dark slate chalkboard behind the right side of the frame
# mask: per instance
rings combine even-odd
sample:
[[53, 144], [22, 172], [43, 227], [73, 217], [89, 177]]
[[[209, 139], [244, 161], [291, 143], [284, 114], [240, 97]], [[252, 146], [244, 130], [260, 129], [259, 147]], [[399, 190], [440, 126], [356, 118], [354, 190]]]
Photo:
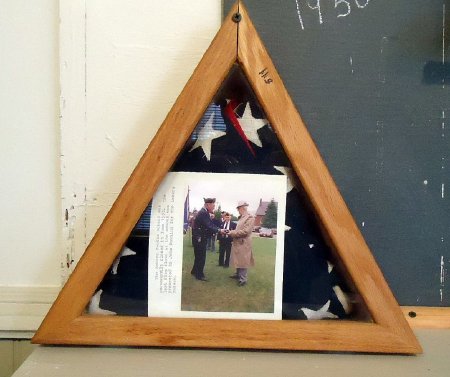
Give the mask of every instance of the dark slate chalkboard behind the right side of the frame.
[[449, 306], [450, 0], [244, 5], [399, 303]]

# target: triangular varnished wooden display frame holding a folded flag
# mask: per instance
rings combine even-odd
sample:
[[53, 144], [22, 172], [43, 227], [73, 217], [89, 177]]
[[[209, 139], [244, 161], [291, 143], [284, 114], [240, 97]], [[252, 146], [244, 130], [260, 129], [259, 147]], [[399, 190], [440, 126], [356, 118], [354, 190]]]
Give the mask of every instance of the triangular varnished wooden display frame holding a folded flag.
[[[95, 289], [236, 62], [242, 67], [256, 93], [312, 202], [324, 233], [346, 267], [373, 322], [83, 315]], [[196, 104], [195, 108], [192, 103]], [[419, 343], [333, 182], [246, 9], [239, 2], [225, 19], [33, 342], [405, 354], [421, 352]]]

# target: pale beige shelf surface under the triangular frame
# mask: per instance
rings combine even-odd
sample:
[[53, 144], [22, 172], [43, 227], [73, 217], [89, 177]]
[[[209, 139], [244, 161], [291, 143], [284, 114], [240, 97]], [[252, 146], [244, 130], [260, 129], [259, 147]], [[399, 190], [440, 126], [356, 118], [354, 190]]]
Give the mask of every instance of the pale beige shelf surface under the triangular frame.
[[40, 346], [14, 377], [448, 376], [450, 329], [416, 334], [424, 349], [417, 356]]

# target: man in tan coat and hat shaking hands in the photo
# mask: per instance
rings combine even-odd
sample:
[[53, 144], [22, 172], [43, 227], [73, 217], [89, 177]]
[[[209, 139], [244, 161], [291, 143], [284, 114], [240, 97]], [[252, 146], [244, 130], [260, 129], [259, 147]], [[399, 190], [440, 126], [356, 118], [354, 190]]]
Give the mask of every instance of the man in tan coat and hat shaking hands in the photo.
[[236, 268], [236, 274], [230, 276], [238, 280], [240, 287], [247, 284], [248, 268], [255, 265], [252, 250], [252, 232], [255, 218], [247, 211], [248, 203], [240, 201], [237, 205], [239, 220], [235, 230], [230, 230], [229, 236], [233, 238], [231, 246], [230, 265]]

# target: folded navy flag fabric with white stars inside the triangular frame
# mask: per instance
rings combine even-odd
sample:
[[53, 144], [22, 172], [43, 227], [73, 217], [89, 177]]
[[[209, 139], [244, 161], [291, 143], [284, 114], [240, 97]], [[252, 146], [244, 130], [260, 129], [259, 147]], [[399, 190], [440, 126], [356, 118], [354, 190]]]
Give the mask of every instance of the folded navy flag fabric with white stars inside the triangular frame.
[[[283, 319], [349, 318], [358, 303], [336, 271], [332, 253], [291, 164], [242, 73], [235, 71], [205, 112], [172, 171], [286, 174]], [[186, 198], [185, 230], [189, 198]], [[88, 311], [147, 315], [148, 233], [151, 203]], [[114, 267], [114, 266], [113, 266]], [[353, 308], [353, 311], [352, 311]]]

